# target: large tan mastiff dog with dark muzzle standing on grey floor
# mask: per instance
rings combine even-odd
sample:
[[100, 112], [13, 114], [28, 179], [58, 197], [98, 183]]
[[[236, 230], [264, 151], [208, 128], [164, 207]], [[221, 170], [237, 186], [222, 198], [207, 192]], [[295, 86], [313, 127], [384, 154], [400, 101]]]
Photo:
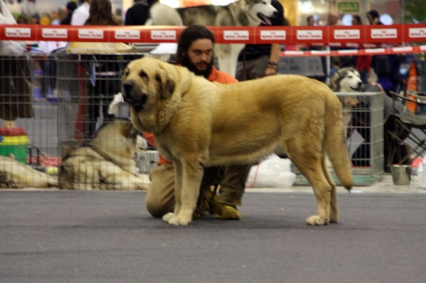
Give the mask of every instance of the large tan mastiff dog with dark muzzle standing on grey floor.
[[339, 220], [325, 155], [346, 189], [351, 163], [342, 105], [325, 84], [298, 75], [218, 84], [145, 57], [124, 70], [123, 95], [133, 125], [154, 133], [158, 150], [175, 165], [175, 210], [163, 221], [191, 222], [204, 167], [248, 164], [271, 152], [286, 152], [312, 184], [318, 208], [307, 224]]

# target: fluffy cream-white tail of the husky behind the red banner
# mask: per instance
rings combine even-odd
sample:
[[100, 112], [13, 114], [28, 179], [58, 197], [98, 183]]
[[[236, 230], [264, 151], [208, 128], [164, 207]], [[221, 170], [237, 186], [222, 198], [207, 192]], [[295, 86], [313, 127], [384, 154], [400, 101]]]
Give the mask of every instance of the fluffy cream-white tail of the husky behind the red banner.
[[183, 26], [182, 18], [178, 11], [170, 6], [153, 4], [149, 10], [150, 18], [146, 22], [146, 26]]

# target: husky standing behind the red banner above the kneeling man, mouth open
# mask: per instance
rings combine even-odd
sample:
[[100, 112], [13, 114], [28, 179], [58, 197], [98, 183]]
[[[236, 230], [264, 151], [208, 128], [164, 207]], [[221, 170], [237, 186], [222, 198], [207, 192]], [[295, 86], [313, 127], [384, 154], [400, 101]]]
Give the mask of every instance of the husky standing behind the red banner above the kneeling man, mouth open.
[[[163, 4], [151, 7], [147, 26], [259, 26], [271, 25], [278, 15], [271, 0], [236, 0], [226, 6], [195, 6], [173, 9]], [[223, 72], [235, 76], [236, 62], [244, 44], [217, 44], [214, 53]]]

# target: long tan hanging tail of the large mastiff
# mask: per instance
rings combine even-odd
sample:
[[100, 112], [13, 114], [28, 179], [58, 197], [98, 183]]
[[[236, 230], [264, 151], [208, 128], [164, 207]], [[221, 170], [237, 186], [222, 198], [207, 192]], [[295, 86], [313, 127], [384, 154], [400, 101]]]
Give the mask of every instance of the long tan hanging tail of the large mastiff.
[[349, 191], [354, 180], [352, 179], [351, 160], [344, 136], [342, 104], [340, 104], [337, 96], [332, 91], [330, 92], [332, 94], [331, 99], [326, 99], [324, 149], [332, 162], [337, 178], [339, 178], [342, 186]]

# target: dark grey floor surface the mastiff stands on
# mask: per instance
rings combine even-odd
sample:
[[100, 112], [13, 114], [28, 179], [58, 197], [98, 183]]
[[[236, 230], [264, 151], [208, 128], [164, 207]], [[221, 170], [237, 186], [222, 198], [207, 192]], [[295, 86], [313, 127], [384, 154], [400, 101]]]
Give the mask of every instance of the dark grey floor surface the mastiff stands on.
[[426, 194], [395, 192], [339, 189], [310, 227], [309, 188], [248, 189], [242, 221], [175, 227], [146, 192], [0, 191], [0, 282], [425, 282]]

